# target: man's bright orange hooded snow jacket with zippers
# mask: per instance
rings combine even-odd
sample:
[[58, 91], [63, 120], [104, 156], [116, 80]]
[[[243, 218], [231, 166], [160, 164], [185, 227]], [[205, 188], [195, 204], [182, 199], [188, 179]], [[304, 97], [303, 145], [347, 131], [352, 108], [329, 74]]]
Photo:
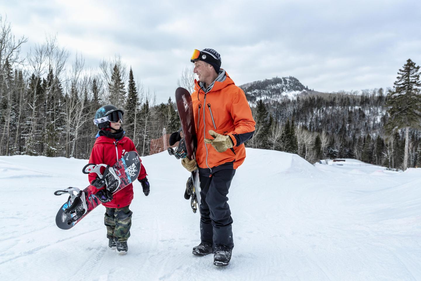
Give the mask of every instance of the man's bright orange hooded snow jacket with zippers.
[[[242, 89], [235, 86], [225, 70], [221, 69], [218, 78], [205, 91], [195, 80], [192, 102], [197, 133], [197, 165], [212, 169], [211, 173], [222, 164], [237, 169], [245, 159], [243, 143], [253, 136], [256, 125], [250, 106]], [[205, 144], [205, 138], [213, 139], [209, 130], [228, 135], [234, 147], [219, 153], [212, 145]]]

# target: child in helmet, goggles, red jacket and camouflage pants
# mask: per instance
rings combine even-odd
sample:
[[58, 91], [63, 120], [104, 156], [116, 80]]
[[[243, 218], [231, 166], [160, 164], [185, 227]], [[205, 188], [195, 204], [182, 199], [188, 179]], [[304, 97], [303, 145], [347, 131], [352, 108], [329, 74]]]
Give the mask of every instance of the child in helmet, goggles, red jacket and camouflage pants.
[[[104, 105], [96, 111], [93, 122], [100, 129], [96, 135], [95, 144], [92, 147], [89, 163], [114, 165], [126, 152], [136, 151], [131, 139], [124, 136], [121, 128], [123, 123], [123, 110], [113, 105]], [[102, 172], [102, 171], [101, 171]], [[144, 166], [141, 164], [138, 180], [143, 187], [143, 193], [149, 195], [149, 182]], [[89, 174], [89, 182], [96, 179], [96, 174]], [[108, 246], [117, 249], [119, 254], [126, 254], [128, 250], [127, 239], [130, 237], [132, 211], [129, 210], [133, 199], [133, 185], [130, 184], [116, 193], [112, 193], [104, 187], [97, 190], [91, 187], [92, 192], [105, 206], [104, 223], [107, 226]]]

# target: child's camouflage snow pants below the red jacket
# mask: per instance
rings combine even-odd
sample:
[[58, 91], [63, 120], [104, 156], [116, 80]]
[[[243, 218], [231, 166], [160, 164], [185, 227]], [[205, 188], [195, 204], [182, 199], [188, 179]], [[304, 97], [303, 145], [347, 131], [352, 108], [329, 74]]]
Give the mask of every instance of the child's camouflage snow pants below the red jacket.
[[115, 241], [127, 241], [130, 237], [133, 212], [129, 210], [129, 206], [123, 208], [105, 207], [104, 224], [107, 227], [107, 238], [114, 238]]

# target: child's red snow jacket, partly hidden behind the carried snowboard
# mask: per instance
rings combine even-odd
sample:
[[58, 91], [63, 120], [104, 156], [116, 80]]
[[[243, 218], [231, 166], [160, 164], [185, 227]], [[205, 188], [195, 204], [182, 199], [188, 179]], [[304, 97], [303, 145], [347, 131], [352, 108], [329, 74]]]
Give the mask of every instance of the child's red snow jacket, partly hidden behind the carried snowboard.
[[[127, 136], [123, 136], [123, 139], [116, 141], [115, 139], [109, 138], [107, 136], [99, 136], [95, 144], [92, 147], [91, 157], [89, 158], [89, 163], [93, 164], [106, 164], [109, 166], [114, 165], [118, 159], [123, 157], [126, 152], [136, 151], [131, 139]], [[137, 151], [136, 151], [137, 152]], [[139, 158], [140, 159], [140, 158]], [[102, 172], [102, 171], [101, 171]], [[145, 167], [142, 165], [140, 167], [140, 173], [138, 179], [144, 179], [146, 177]], [[95, 173], [88, 175], [89, 182], [91, 183], [96, 178]], [[93, 193], [97, 193], [99, 190], [96, 187], [89, 187]], [[133, 200], [133, 185], [130, 184], [124, 187], [122, 190], [114, 194], [112, 201], [107, 203], [102, 203], [102, 205], [108, 208], [123, 208], [130, 205]]]

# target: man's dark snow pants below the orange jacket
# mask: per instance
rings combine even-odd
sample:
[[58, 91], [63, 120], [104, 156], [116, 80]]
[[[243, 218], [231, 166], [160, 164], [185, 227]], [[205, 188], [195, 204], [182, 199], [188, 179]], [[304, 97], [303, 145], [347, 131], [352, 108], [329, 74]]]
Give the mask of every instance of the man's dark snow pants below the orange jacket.
[[200, 178], [200, 240], [213, 248], [234, 248], [232, 217], [227, 203], [234, 169], [216, 171], [199, 168]]

